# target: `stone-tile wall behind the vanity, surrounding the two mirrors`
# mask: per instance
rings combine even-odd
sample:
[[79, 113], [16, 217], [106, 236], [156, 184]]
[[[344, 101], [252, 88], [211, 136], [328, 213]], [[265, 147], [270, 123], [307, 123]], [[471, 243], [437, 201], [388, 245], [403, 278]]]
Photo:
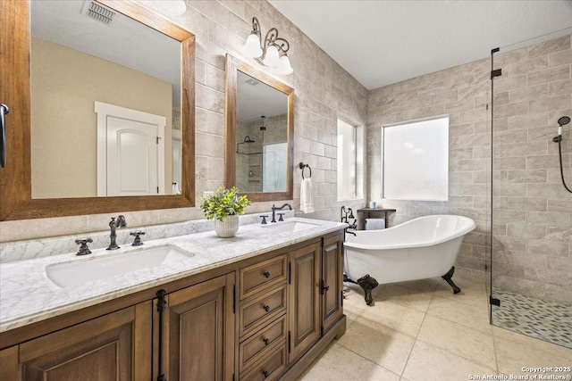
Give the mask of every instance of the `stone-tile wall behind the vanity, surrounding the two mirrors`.
[[[367, 90], [266, 1], [187, 1], [181, 16], [167, 16], [196, 36], [196, 195], [212, 191], [224, 182], [224, 62], [225, 54], [240, 57], [252, 30], [252, 17], [263, 32], [275, 27], [290, 42], [294, 73], [282, 81], [295, 89], [294, 162], [312, 167], [315, 212], [309, 218], [339, 219], [336, 196], [336, 134], [339, 114], [365, 125]], [[153, 2], [146, 2], [154, 6]], [[156, 12], [161, 12], [156, 10]], [[254, 60], [253, 65], [261, 68]], [[299, 210], [301, 172], [294, 170], [294, 199]], [[278, 200], [277, 200], [278, 202]], [[249, 213], [268, 211], [270, 203], [255, 203]], [[348, 204], [348, 203], [347, 203]], [[361, 206], [363, 200], [357, 200]], [[352, 205], [353, 206], [353, 205]], [[107, 228], [116, 213], [57, 219], [0, 222], [0, 241], [43, 236], [80, 235]], [[130, 227], [203, 219], [198, 208], [125, 212]], [[302, 215], [302, 214], [299, 214]]]

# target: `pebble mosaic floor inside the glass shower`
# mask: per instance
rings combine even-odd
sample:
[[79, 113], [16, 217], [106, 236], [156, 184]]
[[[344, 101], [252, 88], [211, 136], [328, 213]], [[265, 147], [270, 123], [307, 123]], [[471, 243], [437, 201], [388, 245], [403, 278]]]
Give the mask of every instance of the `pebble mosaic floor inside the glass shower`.
[[501, 307], [492, 306], [495, 326], [572, 348], [572, 306], [496, 287], [492, 288], [492, 295], [501, 300]]

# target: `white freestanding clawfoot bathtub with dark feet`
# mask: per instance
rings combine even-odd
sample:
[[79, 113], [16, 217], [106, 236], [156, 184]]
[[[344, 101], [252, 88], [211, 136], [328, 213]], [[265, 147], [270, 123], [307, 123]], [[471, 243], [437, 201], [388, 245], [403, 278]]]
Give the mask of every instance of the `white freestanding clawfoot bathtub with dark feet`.
[[453, 215], [411, 219], [393, 228], [358, 230], [346, 235], [344, 280], [357, 283], [371, 304], [378, 284], [443, 277], [458, 294], [451, 277], [463, 237], [476, 224]]

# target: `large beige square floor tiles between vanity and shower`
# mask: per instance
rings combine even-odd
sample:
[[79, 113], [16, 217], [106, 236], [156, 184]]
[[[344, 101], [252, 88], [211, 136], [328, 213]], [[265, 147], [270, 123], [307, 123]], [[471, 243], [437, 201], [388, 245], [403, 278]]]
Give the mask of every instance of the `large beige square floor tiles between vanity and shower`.
[[523, 371], [524, 367], [570, 367], [572, 349], [492, 327], [484, 283], [454, 280], [461, 294], [453, 294], [441, 278], [381, 285], [374, 290], [370, 307], [357, 285], [346, 284], [346, 333], [299, 380], [456, 381], [570, 375], [569, 371]]

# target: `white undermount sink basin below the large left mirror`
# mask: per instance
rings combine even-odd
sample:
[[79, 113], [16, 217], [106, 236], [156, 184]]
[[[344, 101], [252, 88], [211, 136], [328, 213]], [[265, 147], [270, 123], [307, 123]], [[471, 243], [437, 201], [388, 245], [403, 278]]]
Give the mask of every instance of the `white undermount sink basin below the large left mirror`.
[[175, 246], [164, 245], [87, 261], [51, 264], [46, 266], [46, 275], [57, 286], [80, 286], [86, 282], [114, 277], [138, 269], [149, 269], [192, 256], [193, 254], [183, 252]]

